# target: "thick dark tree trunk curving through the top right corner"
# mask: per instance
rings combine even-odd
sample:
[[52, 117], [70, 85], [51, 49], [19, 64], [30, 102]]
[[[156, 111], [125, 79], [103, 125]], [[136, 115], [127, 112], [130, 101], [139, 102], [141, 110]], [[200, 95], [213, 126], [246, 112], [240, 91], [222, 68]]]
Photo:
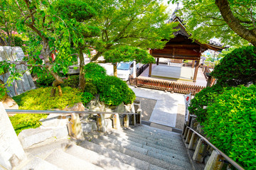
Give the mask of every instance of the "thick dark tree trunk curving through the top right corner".
[[223, 16], [228, 26], [241, 38], [256, 47], [256, 29], [249, 30], [240, 24], [240, 21], [233, 15], [228, 0], [215, 0], [215, 4], [218, 6], [221, 16]]

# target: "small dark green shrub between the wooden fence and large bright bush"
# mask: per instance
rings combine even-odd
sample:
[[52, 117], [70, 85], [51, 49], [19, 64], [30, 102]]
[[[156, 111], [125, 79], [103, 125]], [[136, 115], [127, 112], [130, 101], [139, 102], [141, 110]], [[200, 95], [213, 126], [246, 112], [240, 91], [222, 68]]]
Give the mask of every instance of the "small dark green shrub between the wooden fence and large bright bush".
[[223, 93], [225, 88], [219, 84], [206, 87], [191, 100], [188, 111], [197, 116], [199, 123], [206, 121], [208, 106], [215, 101], [215, 98]]

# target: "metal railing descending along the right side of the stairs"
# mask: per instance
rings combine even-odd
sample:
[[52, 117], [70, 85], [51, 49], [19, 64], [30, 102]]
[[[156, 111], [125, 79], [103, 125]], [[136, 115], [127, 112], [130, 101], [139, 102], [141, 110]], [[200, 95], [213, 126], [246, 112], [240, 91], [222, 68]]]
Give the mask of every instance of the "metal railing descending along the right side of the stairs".
[[245, 170], [242, 168], [242, 166], [240, 166], [238, 163], [236, 163], [235, 161], [233, 161], [233, 159], [231, 159], [230, 157], [228, 157], [228, 155], [224, 154], [220, 149], [218, 149], [218, 147], [215, 147], [215, 145], [213, 145], [209, 140], [206, 139], [206, 137], [203, 137], [203, 135], [201, 135], [200, 133], [196, 132], [196, 130], [193, 130], [193, 128], [189, 127], [191, 125], [191, 119], [192, 118], [196, 118], [196, 115], [189, 115], [189, 120], [188, 120], [188, 125], [184, 125], [184, 130], [182, 135], [185, 135], [184, 132], [186, 132], [186, 129], [191, 130], [192, 132], [194, 132], [198, 137], [200, 137], [204, 142], [207, 143], [207, 145], [209, 145], [210, 147], [212, 147], [215, 152], [217, 152], [218, 154], [220, 154], [226, 162], [232, 164], [236, 169], [238, 170]]

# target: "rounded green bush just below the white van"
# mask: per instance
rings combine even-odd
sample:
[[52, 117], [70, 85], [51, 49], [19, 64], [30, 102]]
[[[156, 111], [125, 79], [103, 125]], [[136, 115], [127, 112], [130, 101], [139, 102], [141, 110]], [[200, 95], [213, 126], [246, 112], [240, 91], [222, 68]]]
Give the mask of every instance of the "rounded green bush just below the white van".
[[117, 77], [107, 76], [101, 81], [97, 81], [97, 91], [100, 94], [100, 101], [107, 105], [118, 106], [120, 103], [132, 103], [136, 96], [129, 89], [129, 86]]

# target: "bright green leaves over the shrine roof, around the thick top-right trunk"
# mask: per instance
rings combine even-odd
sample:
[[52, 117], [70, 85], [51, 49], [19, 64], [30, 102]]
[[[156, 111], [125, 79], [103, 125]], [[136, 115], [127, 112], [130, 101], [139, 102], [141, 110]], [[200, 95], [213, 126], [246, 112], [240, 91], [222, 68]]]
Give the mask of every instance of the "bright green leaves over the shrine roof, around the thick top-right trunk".
[[[240, 37], [239, 28], [234, 31], [228, 26], [229, 23], [221, 15], [216, 1], [183, 0], [182, 4], [183, 8], [180, 10], [179, 16], [184, 19], [186, 28], [192, 34], [192, 38], [201, 40], [201, 42], [206, 42], [211, 38], [218, 38], [225, 44], [235, 46], [248, 44], [246, 40]], [[231, 14], [235, 16], [243, 30], [255, 29], [253, 21], [256, 19], [256, 8], [252, 5], [255, 4], [254, 0], [228, 0], [228, 4], [232, 11]]]

